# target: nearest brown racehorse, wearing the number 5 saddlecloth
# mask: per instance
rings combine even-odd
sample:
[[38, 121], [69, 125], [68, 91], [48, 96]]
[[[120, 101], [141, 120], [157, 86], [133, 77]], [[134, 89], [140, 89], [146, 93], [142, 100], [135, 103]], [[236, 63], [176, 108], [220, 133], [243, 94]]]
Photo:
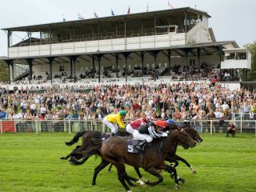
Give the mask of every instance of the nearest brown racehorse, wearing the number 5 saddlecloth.
[[[150, 186], [155, 186], [162, 182], [162, 175], [158, 170], [166, 170], [170, 174], [176, 172], [175, 168], [165, 164], [168, 151], [177, 143], [181, 144], [185, 149], [194, 147], [196, 142], [183, 130], [172, 130], [167, 138], [155, 139], [151, 146], [146, 146], [142, 154], [130, 154], [127, 152], [127, 138], [113, 137], [102, 142], [98, 149], [102, 155], [102, 162], [94, 170], [94, 178], [92, 184], [95, 185], [97, 174], [110, 163], [113, 163], [118, 170], [118, 179], [125, 187], [126, 191], [130, 191], [130, 181], [141, 182], [137, 178], [132, 178], [126, 174], [125, 164], [134, 167], [142, 167], [148, 173], [158, 178], [156, 182], [147, 182]], [[176, 173], [175, 173], [176, 174]], [[178, 177], [174, 176], [174, 181], [178, 187]]]

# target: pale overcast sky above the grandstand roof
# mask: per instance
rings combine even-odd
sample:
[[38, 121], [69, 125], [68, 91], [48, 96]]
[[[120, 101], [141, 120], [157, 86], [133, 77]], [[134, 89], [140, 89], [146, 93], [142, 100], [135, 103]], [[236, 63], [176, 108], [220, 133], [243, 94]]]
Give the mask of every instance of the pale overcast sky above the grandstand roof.
[[[217, 41], [235, 40], [239, 46], [256, 40], [256, 0], [170, 0], [174, 8], [190, 6], [206, 11], [209, 26], [214, 30]], [[0, 28], [29, 26], [49, 22], [93, 18], [94, 10], [99, 17], [149, 10], [166, 10], [168, 0], [5, 0], [1, 1]], [[17, 38], [17, 37], [16, 37]], [[20, 37], [24, 38], [24, 37]], [[0, 32], [0, 56], [7, 53], [6, 33]]]

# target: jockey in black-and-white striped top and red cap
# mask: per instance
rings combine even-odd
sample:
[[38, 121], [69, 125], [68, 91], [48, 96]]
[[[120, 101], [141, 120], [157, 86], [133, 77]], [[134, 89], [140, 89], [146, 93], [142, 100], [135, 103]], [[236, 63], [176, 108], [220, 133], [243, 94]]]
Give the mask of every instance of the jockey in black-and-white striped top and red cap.
[[134, 138], [143, 141], [136, 148], [142, 150], [142, 146], [148, 142], [152, 142], [153, 138], [167, 137], [167, 133], [160, 131], [160, 129], [164, 128], [166, 128], [166, 122], [160, 120], [148, 122], [138, 127], [138, 130], [134, 130]]

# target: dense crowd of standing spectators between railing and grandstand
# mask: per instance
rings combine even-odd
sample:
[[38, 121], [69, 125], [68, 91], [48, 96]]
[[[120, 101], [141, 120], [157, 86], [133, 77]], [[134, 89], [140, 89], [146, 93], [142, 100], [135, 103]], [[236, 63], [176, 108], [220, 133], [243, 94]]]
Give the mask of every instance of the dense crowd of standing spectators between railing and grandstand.
[[[28, 88], [0, 88], [1, 119], [102, 119], [127, 110], [126, 119], [142, 111], [152, 118], [231, 119], [232, 113], [256, 113], [256, 93], [228, 90], [211, 82], [178, 82], [158, 85], [82, 86], [89, 93], [74, 93], [74, 86], [43, 87], [43, 93]], [[42, 87], [31, 87], [31, 90]]]

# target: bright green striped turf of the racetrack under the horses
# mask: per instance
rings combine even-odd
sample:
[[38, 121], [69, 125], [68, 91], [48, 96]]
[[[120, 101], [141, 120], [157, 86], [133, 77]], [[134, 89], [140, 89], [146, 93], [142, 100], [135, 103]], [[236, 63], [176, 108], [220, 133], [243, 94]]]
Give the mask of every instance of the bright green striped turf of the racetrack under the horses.
[[[97, 186], [91, 186], [94, 167], [100, 158], [90, 158], [82, 166], [71, 166], [60, 157], [72, 147], [64, 145], [73, 135], [69, 134], [1, 134], [0, 135], [0, 191], [125, 191], [116, 170], [102, 170]], [[194, 149], [178, 149], [197, 170], [191, 171], [181, 162], [178, 174], [186, 178], [180, 191], [256, 191], [256, 137], [238, 134], [225, 138], [224, 134], [204, 134], [204, 142]], [[133, 168], [127, 172], [136, 176]], [[150, 179], [154, 177], [142, 171]], [[133, 191], [175, 191], [174, 181], [162, 173], [164, 182], [158, 186], [136, 186]]]

